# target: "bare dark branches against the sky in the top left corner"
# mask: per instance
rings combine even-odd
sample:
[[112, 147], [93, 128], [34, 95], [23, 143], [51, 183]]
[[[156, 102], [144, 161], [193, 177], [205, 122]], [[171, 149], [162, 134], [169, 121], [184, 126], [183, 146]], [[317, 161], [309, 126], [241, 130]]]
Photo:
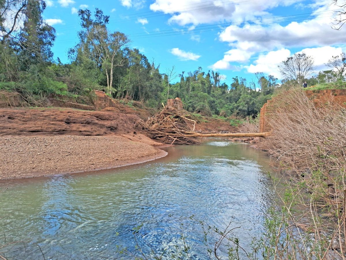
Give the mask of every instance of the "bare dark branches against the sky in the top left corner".
[[0, 42], [2, 44], [18, 29], [26, 5], [26, 0], [0, 1]]

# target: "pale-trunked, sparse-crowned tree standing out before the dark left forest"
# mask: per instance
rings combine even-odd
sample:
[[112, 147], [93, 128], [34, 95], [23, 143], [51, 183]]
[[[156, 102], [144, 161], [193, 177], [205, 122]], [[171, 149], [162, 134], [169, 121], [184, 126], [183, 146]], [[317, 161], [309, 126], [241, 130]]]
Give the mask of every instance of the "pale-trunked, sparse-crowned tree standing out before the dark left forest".
[[116, 66], [122, 66], [125, 58], [116, 63], [115, 57], [122, 47], [130, 40], [120, 32], [109, 33], [102, 25], [95, 25], [89, 34], [92, 49], [99, 57], [102, 69], [107, 76], [107, 93], [112, 94], [113, 70]]

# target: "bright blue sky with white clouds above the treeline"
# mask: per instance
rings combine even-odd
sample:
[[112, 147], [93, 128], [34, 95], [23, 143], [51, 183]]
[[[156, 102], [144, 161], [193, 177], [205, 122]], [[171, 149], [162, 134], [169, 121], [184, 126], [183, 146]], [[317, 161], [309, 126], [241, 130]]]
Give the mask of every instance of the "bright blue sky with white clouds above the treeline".
[[[55, 58], [68, 62], [77, 42], [78, 9], [101, 9], [110, 31], [131, 39], [160, 71], [219, 71], [227, 84], [254, 72], [280, 78], [277, 64], [296, 52], [315, 59], [318, 70], [346, 51], [346, 28], [331, 28], [331, 0], [46, 0], [44, 19], [55, 27]], [[341, 1], [340, 1], [341, 3]], [[185, 28], [185, 29], [183, 29]]]

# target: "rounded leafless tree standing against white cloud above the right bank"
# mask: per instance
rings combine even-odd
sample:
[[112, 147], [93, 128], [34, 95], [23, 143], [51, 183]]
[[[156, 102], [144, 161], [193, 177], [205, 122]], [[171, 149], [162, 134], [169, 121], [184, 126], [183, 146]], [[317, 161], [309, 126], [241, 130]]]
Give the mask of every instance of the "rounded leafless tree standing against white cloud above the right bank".
[[281, 75], [288, 80], [295, 80], [299, 84], [303, 79], [309, 76], [314, 70], [312, 57], [305, 53], [295, 53], [292, 57], [287, 58], [279, 66]]

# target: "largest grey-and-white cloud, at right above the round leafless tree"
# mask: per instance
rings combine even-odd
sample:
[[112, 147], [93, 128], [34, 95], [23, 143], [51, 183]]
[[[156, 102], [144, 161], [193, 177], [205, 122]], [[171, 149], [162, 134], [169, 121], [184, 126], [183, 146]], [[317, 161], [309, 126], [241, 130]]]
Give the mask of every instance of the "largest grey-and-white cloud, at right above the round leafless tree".
[[[291, 3], [293, 2], [292, 0]], [[328, 0], [315, 0], [308, 6], [316, 15], [312, 19], [292, 21], [286, 25], [245, 23], [242, 26], [228, 26], [219, 34], [219, 40], [228, 43], [231, 49], [212, 67], [232, 69], [233, 62], [248, 64], [257, 55], [257, 60], [246, 67], [248, 72], [260, 71], [278, 77], [277, 64], [291, 54], [289, 50], [295, 48], [314, 56], [317, 69], [322, 69], [323, 63], [327, 62], [325, 57], [330, 58], [332, 53], [334, 55], [340, 51], [335, 46], [344, 46], [346, 42], [345, 33], [331, 28], [331, 10], [335, 7], [327, 2]], [[290, 2], [286, 1], [285, 4]], [[312, 52], [320, 52], [320, 55]], [[279, 58], [282, 60], [278, 61]]]

